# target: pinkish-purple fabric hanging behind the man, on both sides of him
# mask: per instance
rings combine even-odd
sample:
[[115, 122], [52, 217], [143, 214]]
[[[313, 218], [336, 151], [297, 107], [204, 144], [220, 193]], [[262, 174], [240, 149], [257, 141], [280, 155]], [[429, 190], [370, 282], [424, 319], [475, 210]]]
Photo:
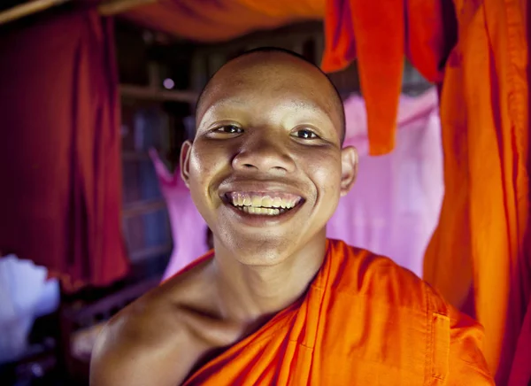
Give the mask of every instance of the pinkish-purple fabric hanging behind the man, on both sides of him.
[[[358, 148], [358, 181], [342, 197], [327, 235], [394, 259], [422, 273], [422, 260], [443, 200], [443, 148], [435, 89], [401, 97], [396, 149], [369, 157], [366, 109], [361, 97], [345, 101], [346, 145]], [[164, 278], [207, 251], [206, 224], [179, 171], [170, 174], [151, 152], [168, 204], [174, 250]]]

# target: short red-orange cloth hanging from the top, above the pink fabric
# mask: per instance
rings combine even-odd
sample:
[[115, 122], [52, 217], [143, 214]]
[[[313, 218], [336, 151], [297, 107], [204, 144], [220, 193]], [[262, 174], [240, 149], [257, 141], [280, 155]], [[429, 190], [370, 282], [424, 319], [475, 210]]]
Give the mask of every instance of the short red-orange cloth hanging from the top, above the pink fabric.
[[423, 0], [327, 0], [321, 67], [339, 71], [358, 59], [371, 155], [395, 147], [404, 55], [429, 81], [442, 80], [439, 66], [455, 35], [446, 8]]

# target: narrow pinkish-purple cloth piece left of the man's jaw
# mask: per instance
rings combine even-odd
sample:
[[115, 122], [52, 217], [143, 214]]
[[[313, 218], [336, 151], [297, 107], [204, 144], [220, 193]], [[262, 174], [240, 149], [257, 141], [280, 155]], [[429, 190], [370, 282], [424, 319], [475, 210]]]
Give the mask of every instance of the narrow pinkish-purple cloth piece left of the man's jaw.
[[150, 150], [150, 157], [165, 197], [173, 235], [173, 252], [162, 278], [165, 281], [208, 251], [208, 227], [181, 179], [180, 169], [169, 172], [154, 149]]

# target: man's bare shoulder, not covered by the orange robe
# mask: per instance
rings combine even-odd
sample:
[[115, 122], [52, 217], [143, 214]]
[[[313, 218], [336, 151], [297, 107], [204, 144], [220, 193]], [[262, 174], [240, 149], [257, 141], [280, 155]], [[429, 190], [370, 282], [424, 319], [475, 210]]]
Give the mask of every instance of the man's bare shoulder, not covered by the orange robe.
[[205, 350], [190, 330], [189, 313], [209, 307], [209, 264], [151, 290], [107, 323], [92, 353], [91, 386], [175, 385], [185, 379]]

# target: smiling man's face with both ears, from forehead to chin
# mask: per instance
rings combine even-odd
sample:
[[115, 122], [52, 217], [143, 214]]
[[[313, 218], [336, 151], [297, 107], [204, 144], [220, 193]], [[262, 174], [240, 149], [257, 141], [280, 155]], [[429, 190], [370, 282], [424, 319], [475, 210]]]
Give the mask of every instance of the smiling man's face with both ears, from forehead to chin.
[[217, 243], [243, 263], [275, 264], [325, 237], [355, 167], [332, 93], [285, 54], [240, 58], [205, 93], [181, 170]]

